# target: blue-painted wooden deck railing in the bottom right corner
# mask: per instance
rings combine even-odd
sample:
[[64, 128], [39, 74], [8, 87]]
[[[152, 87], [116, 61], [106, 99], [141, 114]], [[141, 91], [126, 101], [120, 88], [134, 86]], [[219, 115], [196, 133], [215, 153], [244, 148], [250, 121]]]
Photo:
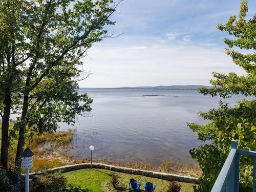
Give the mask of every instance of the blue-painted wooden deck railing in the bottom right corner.
[[253, 157], [252, 192], [255, 192], [256, 152], [237, 148], [237, 141], [231, 141], [231, 150], [212, 187], [211, 192], [239, 192], [239, 158], [240, 154]]

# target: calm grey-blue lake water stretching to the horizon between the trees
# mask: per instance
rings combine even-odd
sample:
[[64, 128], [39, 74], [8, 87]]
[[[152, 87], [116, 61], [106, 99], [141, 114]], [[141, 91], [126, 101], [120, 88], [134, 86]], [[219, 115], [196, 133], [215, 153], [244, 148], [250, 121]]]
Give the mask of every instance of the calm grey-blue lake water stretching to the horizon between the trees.
[[[169, 159], [195, 163], [188, 151], [204, 143], [186, 122], [205, 123], [198, 112], [217, 108], [220, 100], [194, 90], [80, 89], [82, 92], [94, 99], [91, 117], [79, 117], [74, 126], [60, 123], [61, 130], [76, 129], [69, 154], [89, 157], [89, 146], [94, 145], [95, 158], [121, 163], [159, 164]], [[228, 101], [233, 105], [237, 99]]]

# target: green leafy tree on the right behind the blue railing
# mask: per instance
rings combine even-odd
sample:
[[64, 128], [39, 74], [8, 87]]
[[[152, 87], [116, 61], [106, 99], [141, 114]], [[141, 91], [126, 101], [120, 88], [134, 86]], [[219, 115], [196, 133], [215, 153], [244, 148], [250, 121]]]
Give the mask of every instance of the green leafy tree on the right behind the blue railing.
[[[239, 17], [230, 16], [225, 25], [217, 25], [219, 30], [226, 31], [235, 37], [224, 39], [228, 46], [226, 54], [236, 65], [245, 70], [246, 75], [214, 72], [214, 79], [210, 80], [214, 88], [202, 87], [199, 89], [200, 93], [219, 95], [222, 98], [238, 94], [256, 96], [256, 14], [246, 20], [247, 11], [247, 1], [242, 0]], [[256, 100], [244, 98], [237, 101], [233, 107], [223, 101], [219, 104], [218, 109], [200, 113], [200, 116], [209, 120], [209, 123], [204, 125], [187, 123], [189, 128], [198, 134], [199, 140], [212, 140], [212, 144], [190, 150], [191, 156], [197, 159], [203, 171], [199, 186], [194, 187], [195, 191], [211, 190], [229, 153], [232, 139], [238, 141], [239, 148], [256, 151]], [[251, 158], [241, 156], [240, 187], [243, 188], [242, 191], [247, 191], [251, 187], [252, 164]]]

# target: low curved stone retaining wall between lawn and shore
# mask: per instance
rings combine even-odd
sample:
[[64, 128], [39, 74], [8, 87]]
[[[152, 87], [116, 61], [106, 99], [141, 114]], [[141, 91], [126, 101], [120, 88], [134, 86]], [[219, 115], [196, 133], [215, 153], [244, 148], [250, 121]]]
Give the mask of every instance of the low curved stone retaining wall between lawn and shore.
[[[55, 167], [52, 169], [49, 169], [49, 171], [52, 172], [58, 172], [59, 170], [63, 173], [65, 172], [71, 172], [72, 170], [78, 170], [78, 169], [84, 169], [84, 168], [90, 168], [90, 163], [80, 163], [80, 164], [74, 164], [74, 165], [66, 165], [61, 167]], [[198, 179], [195, 177], [188, 177], [188, 176], [180, 176], [175, 174], [166, 174], [161, 172], [152, 172], [150, 170], [141, 170], [141, 169], [135, 169], [135, 168], [126, 168], [121, 166], [114, 166], [114, 165], [108, 165], [108, 164], [102, 164], [102, 163], [93, 163], [93, 168], [100, 168], [100, 169], [108, 169], [112, 170], [114, 172], [121, 172], [126, 174], [134, 174], [134, 175], [142, 175], [146, 177], [153, 177], [158, 179], [163, 179], [167, 181], [180, 181], [180, 182], [186, 182], [186, 183], [198, 183]], [[37, 177], [41, 174], [45, 174], [42, 172], [36, 172], [36, 173], [30, 173], [30, 178]]]

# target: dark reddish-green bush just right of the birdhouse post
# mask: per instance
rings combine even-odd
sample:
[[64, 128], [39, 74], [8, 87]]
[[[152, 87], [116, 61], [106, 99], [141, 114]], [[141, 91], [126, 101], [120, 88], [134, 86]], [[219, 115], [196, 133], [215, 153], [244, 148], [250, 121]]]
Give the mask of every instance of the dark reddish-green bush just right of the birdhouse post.
[[79, 192], [80, 187], [67, 185], [67, 179], [60, 173], [50, 173], [32, 180], [30, 183], [31, 192]]

